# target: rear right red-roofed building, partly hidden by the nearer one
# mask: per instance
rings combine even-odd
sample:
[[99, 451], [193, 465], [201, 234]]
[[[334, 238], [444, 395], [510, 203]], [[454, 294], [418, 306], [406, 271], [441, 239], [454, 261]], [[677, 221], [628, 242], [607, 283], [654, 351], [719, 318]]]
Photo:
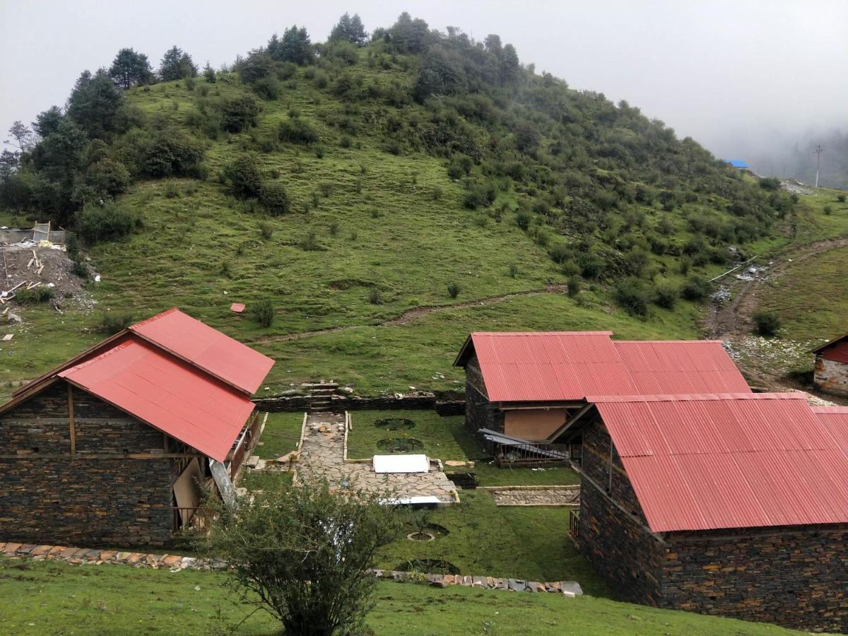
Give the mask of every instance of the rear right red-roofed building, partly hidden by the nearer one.
[[552, 442], [587, 395], [750, 393], [722, 344], [612, 340], [612, 332], [476, 332], [466, 370], [466, 426]]

